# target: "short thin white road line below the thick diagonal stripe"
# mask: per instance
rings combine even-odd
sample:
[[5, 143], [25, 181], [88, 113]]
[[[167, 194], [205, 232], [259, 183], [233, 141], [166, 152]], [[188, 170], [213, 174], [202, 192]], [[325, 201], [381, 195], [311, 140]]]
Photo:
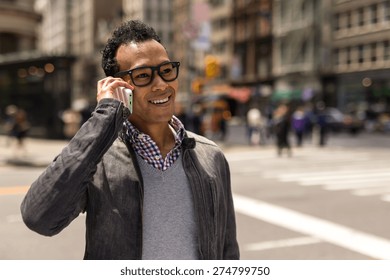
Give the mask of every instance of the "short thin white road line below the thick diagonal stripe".
[[285, 248], [293, 246], [311, 245], [323, 242], [321, 239], [314, 237], [297, 237], [282, 240], [266, 241], [248, 244], [243, 247], [245, 251], [264, 251], [276, 248]]

